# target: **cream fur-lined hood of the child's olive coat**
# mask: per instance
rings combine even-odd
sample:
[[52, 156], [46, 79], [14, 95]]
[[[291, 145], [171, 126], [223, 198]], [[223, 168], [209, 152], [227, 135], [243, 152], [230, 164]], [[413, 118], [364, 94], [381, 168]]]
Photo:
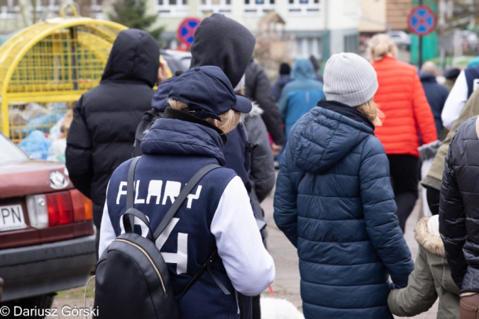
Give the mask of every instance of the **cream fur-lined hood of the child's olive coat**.
[[[416, 241], [424, 247], [425, 250], [436, 254], [441, 257], [446, 257], [446, 252], [444, 251], [444, 244], [441, 240], [440, 235], [433, 235], [433, 233], [439, 234], [439, 223], [429, 223], [431, 218], [437, 218], [436, 216], [433, 217], [424, 217], [416, 225], [414, 228], [414, 237]], [[431, 220], [433, 222], [435, 220]], [[437, 229], [435, 229], [437, 227]], [[429, 230], [429, 228], [434, 228]]]

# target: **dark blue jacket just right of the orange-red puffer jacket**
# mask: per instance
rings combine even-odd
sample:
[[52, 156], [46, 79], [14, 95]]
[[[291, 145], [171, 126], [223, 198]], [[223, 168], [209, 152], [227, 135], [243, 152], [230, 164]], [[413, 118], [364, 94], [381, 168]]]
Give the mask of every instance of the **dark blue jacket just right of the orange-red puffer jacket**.
[[446, 86], [437, 83], [436, 77], [431, 74], [422, 74], [421, 83], [424, 93], [426, 94], [427, 102], [429, 103], [429, 106], [431, 106], [431, 111], [434, 115], [437, 136], [441, 136], [441, 130], [443, 128], [441, 113], [449, 95], [449, 91], [446, 89]]

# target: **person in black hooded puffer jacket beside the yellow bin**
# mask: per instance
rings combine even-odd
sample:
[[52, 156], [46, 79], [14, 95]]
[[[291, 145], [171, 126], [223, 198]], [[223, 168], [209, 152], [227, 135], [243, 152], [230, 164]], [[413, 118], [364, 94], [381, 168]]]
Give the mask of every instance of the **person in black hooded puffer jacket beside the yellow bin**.
[[66, 165], [75, 187], [93, 201], [97, 228], [111, 174], [131, 158], [136, 126], [151, 108], [159, 61], [158, 43], [151, 35], [123, 30], [111, 48], [100, 84], [75, 103]]

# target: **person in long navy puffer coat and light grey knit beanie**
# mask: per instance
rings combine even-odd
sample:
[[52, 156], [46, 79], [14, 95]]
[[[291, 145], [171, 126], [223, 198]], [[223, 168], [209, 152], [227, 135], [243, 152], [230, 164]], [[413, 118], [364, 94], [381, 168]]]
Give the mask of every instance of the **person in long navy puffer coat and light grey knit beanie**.
[[274, 218], [299, 255], [305, 318], [392, 318], [392, 285], [414, 264], [397, 220], [373, 67], [353, 53], [324, 70], [326, 100], [293, 126], [280, 162]]

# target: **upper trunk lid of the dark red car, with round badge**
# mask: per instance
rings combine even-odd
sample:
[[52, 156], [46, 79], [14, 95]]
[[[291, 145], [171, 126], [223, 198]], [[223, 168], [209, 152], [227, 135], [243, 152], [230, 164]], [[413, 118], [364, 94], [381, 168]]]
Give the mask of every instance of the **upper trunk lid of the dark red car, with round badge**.
[[72, 189], [65, 164], [28, 159], [0, 165], [1, 198]]

